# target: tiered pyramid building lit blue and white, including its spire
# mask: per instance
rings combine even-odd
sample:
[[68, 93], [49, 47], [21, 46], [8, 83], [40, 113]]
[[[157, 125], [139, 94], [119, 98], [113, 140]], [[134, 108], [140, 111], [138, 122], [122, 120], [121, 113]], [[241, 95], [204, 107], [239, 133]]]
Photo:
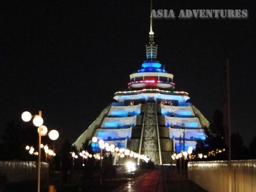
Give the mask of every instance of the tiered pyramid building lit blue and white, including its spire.
[[[173, 91], [173, 75], [156, 60], [152, 17], [149, 39], [147, 60], [130, 75], [130, 91], [115, 93], [116, 102], [81, 134], [74, 143], [77, 148], [96, 136], [109, 145], [145, 154], [155, 164], [169, 164], [173, 153], [205, 140], [204, 127], [209, 122], [188, 102], [188, 93]], [[96, 145], [93, 150], [99, 152], [100, 148]]]

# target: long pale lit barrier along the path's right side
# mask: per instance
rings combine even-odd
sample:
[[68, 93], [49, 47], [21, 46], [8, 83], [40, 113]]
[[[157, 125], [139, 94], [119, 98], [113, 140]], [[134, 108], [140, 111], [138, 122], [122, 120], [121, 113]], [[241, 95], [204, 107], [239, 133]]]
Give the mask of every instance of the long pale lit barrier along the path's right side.
[[191, 162], [188, 179], [207, 191], [256, 191], [256, 160]]

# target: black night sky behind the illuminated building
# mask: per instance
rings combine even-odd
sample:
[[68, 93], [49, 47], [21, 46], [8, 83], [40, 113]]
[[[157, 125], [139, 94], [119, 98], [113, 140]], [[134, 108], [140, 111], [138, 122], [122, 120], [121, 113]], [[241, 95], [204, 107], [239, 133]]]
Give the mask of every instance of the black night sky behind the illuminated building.
[[[211, 120], [230, 63], [232, 131], [256, 136], [255, 1], [157, 1], [176, 19], [154, 19], [157, 59], [177, 91]], [[179, 19], [185, 9], [248, 10], [248, 19]], [[150, 1], [0, 1], [0, 133], [22, 111], [73, 143], [145, 60]]]

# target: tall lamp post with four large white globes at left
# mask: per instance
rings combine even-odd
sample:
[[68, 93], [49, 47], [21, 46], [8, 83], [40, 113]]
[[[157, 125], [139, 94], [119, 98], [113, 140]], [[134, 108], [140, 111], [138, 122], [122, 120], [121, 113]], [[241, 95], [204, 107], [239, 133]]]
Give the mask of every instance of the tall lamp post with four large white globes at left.
[[[24, 122], [29, 122], [31, 118], [33, 118], [33, 124], [38, 127], [38, 181], [37, 181], [37, 191], [40, 192], [40, 168], [41, 168], [41, 136], [45, 136], [47, 134], [47, 127], [43, 125], [44, 120], [42, 118], [42, 111], [39, 111], [38, 115], [32, 116], [31, 113], [25, 111], [21, 115], [22, 120]], [[51, 140], [57, 140], [59, 137], [59, 133], [56, 130], [52, 130], [49, 132], [49, 138]]]

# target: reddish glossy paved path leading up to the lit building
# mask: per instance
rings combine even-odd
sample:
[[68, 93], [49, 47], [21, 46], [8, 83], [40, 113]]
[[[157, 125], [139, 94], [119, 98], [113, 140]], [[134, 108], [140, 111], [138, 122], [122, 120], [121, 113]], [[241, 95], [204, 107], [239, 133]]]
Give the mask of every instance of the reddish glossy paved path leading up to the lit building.
[[185, 175], [180, 174], [177, 170], [170, 168], [170, 166], [158, 166], [154, 170], [127, 182], [113, 192], [120, 191], [205, 192], [204, 189], [188, 180]]

